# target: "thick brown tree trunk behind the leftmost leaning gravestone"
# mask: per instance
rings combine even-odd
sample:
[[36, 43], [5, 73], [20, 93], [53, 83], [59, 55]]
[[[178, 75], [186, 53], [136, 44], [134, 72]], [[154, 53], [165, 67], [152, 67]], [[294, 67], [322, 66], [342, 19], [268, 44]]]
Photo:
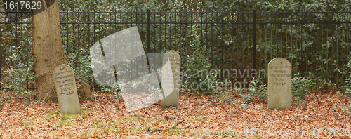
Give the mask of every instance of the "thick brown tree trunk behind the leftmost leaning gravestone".
[[67, 64], [62, 47], [60, 16], [57, 0], [41, 1], [42, 8], [33, 10], [33, 58], [37, 95], [40, 100], [58, 102], [53, 80], [53, 69]]

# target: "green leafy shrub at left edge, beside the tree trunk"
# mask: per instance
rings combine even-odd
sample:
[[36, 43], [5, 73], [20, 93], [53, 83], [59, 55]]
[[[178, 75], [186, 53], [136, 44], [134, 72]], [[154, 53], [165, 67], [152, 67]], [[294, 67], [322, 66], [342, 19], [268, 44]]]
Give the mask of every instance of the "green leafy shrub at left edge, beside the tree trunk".
[[4, 75], [5, 81], [1, 86], [9, 88], [10, 91], [25, 99], [34, 91], [27, 91], [27, 84], [36, 79], [38, 75], [34, 75], [32, 68], [34, 62], [31, 58], [27, 59], [27, 65], [21, 60], [20, 49], [16, 46], [11, 46], [12, 55], [5, 58], [8, 64], [8, 69], [1, 68], [1, 74]]

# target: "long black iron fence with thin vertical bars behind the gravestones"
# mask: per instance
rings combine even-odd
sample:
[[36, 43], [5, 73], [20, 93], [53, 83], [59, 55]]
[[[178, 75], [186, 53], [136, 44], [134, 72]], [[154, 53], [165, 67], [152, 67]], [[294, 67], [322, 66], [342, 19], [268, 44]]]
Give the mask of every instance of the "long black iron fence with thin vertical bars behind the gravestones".
[[[0, 14], [1, 73], [11, 65], [5, 58], [13, 55], [13, 48], [19, 48], [22, 63], [32, 58], [32, 13]], [[312, 77], [319, 85], [343, 85], [350, 77], [351, 12], [63, 11], [60, 25], [69, 65], [86, 82], [93, 81], [88, 67], [91, 45], [133, 26], [139, 29], [145, 52], [173, 49], [183, 63], [192, 55], [193, 35], [199, 35], [207, 48], [204, 53], [222, 71], [220, 79], [250, 78], [251, 69], [266, 69], [276, 57], [288, 59], [293, 74]]]

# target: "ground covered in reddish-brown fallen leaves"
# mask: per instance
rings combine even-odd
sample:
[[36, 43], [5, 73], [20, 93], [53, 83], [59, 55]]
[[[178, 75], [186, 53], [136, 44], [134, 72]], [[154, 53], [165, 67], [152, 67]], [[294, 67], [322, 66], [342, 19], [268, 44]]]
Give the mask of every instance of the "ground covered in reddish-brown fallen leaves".
[[97, 95], [81, 103], [81, 114], [66, 115], [58, 103], [13, 96], [0, 108], [0, 138], [351, 138], [350, 95], [340, 91], [310, 93], [286, 110], [268, 110], [267, 101], [248, 103], [240, 95], [224, 103], [214, 95], [180, 93], [179, 107], [126, 112], [123, 100]]

